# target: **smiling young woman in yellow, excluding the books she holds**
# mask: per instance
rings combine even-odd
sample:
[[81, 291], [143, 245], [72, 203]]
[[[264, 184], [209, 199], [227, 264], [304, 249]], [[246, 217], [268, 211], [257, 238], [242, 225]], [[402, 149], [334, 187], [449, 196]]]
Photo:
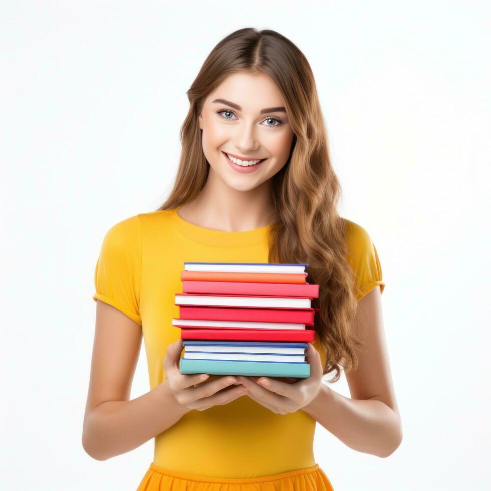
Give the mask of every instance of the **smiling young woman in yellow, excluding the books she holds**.
[[[402, 439], [367, 231], [336, 211], [339, 181], [310, 66], [280, 34], [240, 29], [187, 92], [174, 187], [156, 211], [106, 233], [83, 446], [105, 460], [155, 438], [140, 490], [333, 489], [313, 454], [316, 421], [380, 457]], [[320, 285], [311, 376], [181, 375], [184, 262], [307, 263]], [[129, 400], [144, 339], [151, 390]], [[322, 383], [345, 371], [352, 398]], [[234, 487], [234, 489], [239, 489]]]

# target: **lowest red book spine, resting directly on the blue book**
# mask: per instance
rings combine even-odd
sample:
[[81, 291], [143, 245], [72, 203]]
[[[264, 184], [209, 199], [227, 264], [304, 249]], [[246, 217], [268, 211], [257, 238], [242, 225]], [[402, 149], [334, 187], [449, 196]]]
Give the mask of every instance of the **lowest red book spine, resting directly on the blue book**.
[[315, 338], [313, 329], [178, 329], [182, 339], [196, 340], [313, 343]]

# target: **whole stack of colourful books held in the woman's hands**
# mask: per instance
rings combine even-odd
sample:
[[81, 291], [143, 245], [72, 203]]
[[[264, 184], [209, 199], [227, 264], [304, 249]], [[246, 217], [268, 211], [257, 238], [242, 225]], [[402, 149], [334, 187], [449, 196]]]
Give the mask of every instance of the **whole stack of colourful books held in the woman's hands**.
[[[310, 376], [307, 343], [314, 342], [307, 264], [184, 263], [175, 294], [184, 355], [182, 374]], [[216, 377], [215, 377], [216, 378]], [[210, 377], [206, 382], [210, 381]]]

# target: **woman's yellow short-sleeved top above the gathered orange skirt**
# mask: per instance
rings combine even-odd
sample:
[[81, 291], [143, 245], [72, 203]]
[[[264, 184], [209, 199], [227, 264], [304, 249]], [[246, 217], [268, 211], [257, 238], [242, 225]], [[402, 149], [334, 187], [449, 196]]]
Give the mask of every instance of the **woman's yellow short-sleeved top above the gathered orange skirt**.
[[[360, 225], [350, 220], [347, 225], [357, 298], [376, 285], [383, 291], [372, 240]], [[151, 389], [165, 380], [167, 346], [180, 337], [172, 318], [179, 317], [174, 296], [182, 292], [184, 262], [267, 263], [269, 228], [213, 230], [185, 221], [173, 209], [140, 213], [108, 230], [95, 269], [93, 299], [142, 326]], [[324, 366], [317, 336], [314, 346]], [[156, 435], [153, 462], [176, 472], [224, 478], [309, 467], [316, 463], [315, 426], [315, 419], [302, 410], [276, 414], [246, 395], [205, 411], [189, 411]]]

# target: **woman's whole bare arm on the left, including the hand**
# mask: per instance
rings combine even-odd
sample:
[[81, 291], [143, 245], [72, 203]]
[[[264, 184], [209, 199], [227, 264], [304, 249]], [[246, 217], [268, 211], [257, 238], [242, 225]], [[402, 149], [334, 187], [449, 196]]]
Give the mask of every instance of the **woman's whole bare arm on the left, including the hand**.
[[197, 387], [201, 374], [181, 374], [178, 363], [183, 344], [178, 339], [167, 347], [163, 360], [166, 379], [146, 394], [129, 400], [141, 340], [138, 323], [97, 300], [82, 433], [84, 450], [97, 460], [133, 450], [193, 409], [204, 411], [244, 395], [244, 387], [235, 377], [220, 376]]

